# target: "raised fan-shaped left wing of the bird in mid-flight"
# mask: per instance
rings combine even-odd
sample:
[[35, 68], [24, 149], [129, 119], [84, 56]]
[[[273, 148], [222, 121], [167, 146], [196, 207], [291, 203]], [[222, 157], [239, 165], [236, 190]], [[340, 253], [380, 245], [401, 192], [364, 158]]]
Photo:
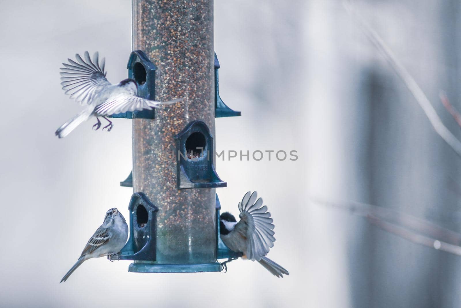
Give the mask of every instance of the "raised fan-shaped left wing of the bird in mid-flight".
[[93, 61], [89, 57], [88, 51], [83, 54], [85, 60], [77, 53], [74, 60], [67, 59], [70, 64], [63, 63], [65, 67], [61, 67], [61, 85], [65, 90], [65, 94], [71, 95], [81, 105], [91, 104], [91, 101], [101, 89], [110, 85], [106, 79], [104, 71], [105, 59], [102, 58], [99, 64], [99, 54], [95, 52]]

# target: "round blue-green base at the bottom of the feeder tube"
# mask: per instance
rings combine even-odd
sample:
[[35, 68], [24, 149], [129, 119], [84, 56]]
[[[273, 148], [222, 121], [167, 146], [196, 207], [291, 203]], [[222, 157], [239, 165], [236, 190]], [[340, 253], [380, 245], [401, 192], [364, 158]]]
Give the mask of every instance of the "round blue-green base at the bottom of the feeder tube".
[[128, 272], [220, 272], [221, 264], [199, 263], [199, 264], [159, 264], [138, 261], [131, 263]]

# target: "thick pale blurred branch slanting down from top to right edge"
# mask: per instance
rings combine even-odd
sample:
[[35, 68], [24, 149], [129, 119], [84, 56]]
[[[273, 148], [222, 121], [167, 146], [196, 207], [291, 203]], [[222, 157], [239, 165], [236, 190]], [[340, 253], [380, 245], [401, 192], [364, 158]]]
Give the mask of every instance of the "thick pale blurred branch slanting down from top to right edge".
[[445, 140], [445, 142], [447, 142], [453, 150], [455, 150], [456, 154], [461, 156], [461, 142], [451, 133], [451, 131], [449, 131], [445, 125], [443, 125], [442, 120], [438, 117], [437, 112], [435, 111], [427, 96], [424, 94], [423, 90], [421, 90], [418, 83], [416, 83], [414, 78], [410, 75], [410, 73], [408, 73], [402, 63], [400, 63], [392, 50], [390, 50], [390, 48], [381, 39], [378, 33], [376, 33], [368, 24], [366, 24], [364, 19], [355, 12], [350, 1], [344, 0], [343, 4], [347, 11], [359, 22], [368, 39], [372, 41], [372, 43], [383, 53], [384, 58], [389, 62], [394, 71], [396, 71], [397, 75], [402, 79], [403, 83], [405, 83], [408, 90], [410, 90], [411, 94], [423, 109], [426, 117], [431, 122], [432, 127], [437, 132], [437, 134], [441, 136], [442, 139]]

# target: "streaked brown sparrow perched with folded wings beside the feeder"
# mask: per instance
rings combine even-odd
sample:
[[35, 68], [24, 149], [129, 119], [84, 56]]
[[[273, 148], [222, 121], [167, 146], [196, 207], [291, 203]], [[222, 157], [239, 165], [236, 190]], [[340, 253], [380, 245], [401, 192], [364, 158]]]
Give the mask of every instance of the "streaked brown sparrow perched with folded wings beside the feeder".
[[102, 225], [96, 230], [95, 234], [89, 239], [82, 255], [78, 261], [61, 279], [61, 282], [66, 281], [71, 273], [79, 267], [83, 261], [91, 258], [99, 258], [106, 255], [113, 255], [120, 252], [120, 249], [126, 243], [128, 238], [128, 225], [117, 208], [111, 208], [106, 212], [106, 218]]

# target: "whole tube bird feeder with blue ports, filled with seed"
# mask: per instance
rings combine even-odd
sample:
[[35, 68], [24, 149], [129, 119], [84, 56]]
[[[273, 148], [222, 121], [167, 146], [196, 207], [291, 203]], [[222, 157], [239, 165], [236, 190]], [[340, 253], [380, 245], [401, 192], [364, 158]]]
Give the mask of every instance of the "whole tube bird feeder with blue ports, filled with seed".
[[219, 237], [214, 165], [215, 117], [236, 116], [218, 93], [213, 50], [213, 0], [133, 0], [128, 74], [138, 96], [184, 101], [133, 119], [130, 237], [112, 259], [132, 260], [130, 272], [219, 272], [233, 253]]

